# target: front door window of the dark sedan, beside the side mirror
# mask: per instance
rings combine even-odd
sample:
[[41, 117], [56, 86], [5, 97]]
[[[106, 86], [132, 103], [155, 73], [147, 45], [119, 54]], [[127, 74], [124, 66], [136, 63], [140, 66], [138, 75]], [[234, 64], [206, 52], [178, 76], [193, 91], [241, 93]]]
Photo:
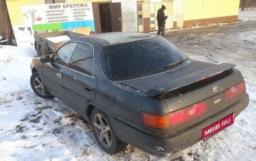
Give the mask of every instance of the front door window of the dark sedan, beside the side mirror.
[[68, 63], [70, 62], [70, 58], [76, 48], [76, 45], [77, 43], [67, 43], [63, 45], [54, 53], [52, 62], [68, 67]]

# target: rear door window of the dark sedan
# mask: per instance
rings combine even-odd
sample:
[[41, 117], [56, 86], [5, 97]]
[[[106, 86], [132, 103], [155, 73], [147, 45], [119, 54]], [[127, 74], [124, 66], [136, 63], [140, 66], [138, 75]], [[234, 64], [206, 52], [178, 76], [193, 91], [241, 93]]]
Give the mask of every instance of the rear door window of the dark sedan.
[[69, 68], [93, 76], [93, 47], [89, 44], [79, 43], [72, 55]]

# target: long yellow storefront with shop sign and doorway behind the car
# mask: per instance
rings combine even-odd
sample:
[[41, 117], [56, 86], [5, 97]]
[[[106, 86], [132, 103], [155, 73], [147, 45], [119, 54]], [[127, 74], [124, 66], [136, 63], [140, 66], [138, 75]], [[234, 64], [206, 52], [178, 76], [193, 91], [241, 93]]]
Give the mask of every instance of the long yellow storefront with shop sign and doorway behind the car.
[[67, 29], [75, 29], [86, 35], [112, 31], [156, 31], [157, 11], [162, 5], [166, 6], [165, 14], [168, 15], [166, 29], [235, 22], [239, 2], [240, 0], [6, 0], [16, 39], [25, 39], [22, 36], [25, 33], [33, 35], [35, 32]]

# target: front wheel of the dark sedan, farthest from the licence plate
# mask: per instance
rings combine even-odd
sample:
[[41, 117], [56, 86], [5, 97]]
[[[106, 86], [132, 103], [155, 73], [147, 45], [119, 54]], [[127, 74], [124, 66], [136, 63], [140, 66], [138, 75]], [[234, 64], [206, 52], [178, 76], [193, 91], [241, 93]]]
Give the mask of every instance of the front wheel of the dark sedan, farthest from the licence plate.
[[53, 95], [51, 95], [43, 85], [42, 79], [39, 76], [38, 72], [34, 72], [31, 75], [30, 85], [36, 95], [42, 98], [53, 98]]

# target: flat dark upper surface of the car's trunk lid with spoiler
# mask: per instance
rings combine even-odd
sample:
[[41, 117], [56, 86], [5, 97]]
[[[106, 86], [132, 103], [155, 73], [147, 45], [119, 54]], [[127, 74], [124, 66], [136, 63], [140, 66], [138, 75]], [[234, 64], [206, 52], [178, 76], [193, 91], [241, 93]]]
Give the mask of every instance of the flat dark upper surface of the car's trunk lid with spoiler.
[[120, 81], [120, 83], [144, 91], [148, 96], [157, 96], [202, 81], [234, 67], [235, 65], [230, 63], [213, 65], [193, 61], [189, 65], [175, 70], [139, 79]]

